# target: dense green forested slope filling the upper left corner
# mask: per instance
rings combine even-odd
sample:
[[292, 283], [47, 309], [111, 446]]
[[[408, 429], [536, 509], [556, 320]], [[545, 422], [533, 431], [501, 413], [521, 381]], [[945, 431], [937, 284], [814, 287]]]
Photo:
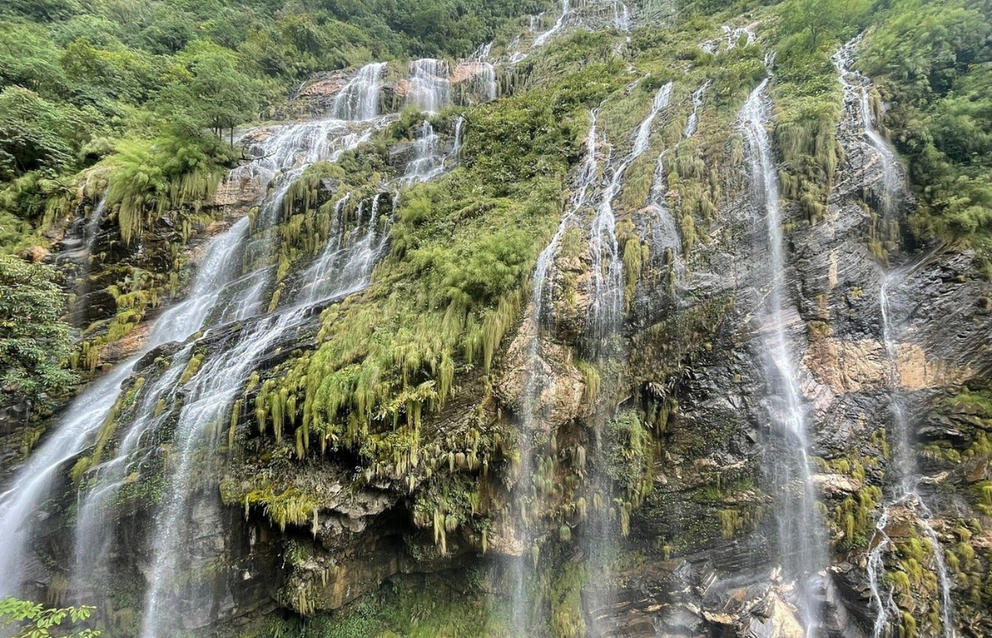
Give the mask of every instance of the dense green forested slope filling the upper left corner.
[[[466, 56], [534, 0], [31, 0], [0, 27], [0, 250], [44, 243], [79, 171], [106, 167], [126, 242], [207, 196], [233, 127], [310, 73]], [[212, 134], [211, 134], [212, 132]], [[48, 219], [46, 219], [48, 213]]]

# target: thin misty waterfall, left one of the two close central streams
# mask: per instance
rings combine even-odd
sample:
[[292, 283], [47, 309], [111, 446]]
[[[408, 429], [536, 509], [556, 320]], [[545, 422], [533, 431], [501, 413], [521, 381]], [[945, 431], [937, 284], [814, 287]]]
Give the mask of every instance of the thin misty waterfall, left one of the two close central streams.
[[596, 179], [596, 112], [590, 114], [589, 132], [585, 137], [585, 158], [578, 170], [575, 179], [575, 190], [569, 201], [568, 210], [561, 216], [558, 222], [558, 230], [552, 236], [552, 240], [538, 256], [538, 263], [534, 269], [534, 282], [531, 287], [531, 306], [527, 316], [526, 325], [522, 332], [528, 335], [527, 355], [525, 360], [529, 364], [527, 379], [524, 383], [524, 390], [521, 396], [520, 411], [520, 440], [518, 449], [520, 451], [520, 470], [517, 477], [517, 503], [521, 511], [517, 515], [517, 527], [515, 536], [518, 544], [522, 545], [525, 552], [519, 560], [513, 564], [511, 596], [511, 613], [513, 628], [521, 632], [521, 636], [532, 635], [530, 623], [530, 610], [534, 607], [531, 591], [528, 588], [528, 575], [533, 574], [530, 551], [534, 544], [534, 538], [530, 531], [530, 521], [536, 520], [540, 512], [530, 512], [529, 508], [534, 504], [534, 492], [531, 483], [531, 474], [534, 471], [534, 432], [537, 425], [537, 409], [541, 402], [541, 397], [548, 389], [549, 379], [544, 376], [542, 361], [540, 357], [542, 331], [546, 326], [545, 308], [551, 301], [551, 288], [548, 285], [549, 274], [552, 272], [555, 257], [558, 254], [558, 246], [565, 231], [574, 222], [578, 211], [586, 204], [588, 192], [592, 188]]

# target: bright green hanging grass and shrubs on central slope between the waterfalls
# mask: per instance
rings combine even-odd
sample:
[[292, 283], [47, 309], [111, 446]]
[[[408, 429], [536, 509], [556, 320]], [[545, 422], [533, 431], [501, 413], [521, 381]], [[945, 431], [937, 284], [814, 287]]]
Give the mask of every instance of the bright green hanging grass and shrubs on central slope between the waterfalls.
[[[260, 427], [392, 458], [398, 426], [416, 435], [457, 392], [456, 373], [489, 369], [560, 214], [586, 109], [616, 85], [602, 79], [616, 70], [594, 67], [472, 113], [462, 168], [403, 196], [372, 287], [328, 309], [319, 348], [262, 382]], [[518, 144], [500, 143], [509, 131]]]

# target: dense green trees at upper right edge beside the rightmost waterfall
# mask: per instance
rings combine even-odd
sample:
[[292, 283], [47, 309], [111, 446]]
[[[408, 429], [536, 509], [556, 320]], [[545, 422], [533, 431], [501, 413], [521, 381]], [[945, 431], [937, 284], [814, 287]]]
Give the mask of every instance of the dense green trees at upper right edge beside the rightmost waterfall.
[[922, 237], [974, 247], [992, 275], [992, 11], [982, 0], [897, 0], [861, 67], [891, 100], [885, 124], [919, 197]]

